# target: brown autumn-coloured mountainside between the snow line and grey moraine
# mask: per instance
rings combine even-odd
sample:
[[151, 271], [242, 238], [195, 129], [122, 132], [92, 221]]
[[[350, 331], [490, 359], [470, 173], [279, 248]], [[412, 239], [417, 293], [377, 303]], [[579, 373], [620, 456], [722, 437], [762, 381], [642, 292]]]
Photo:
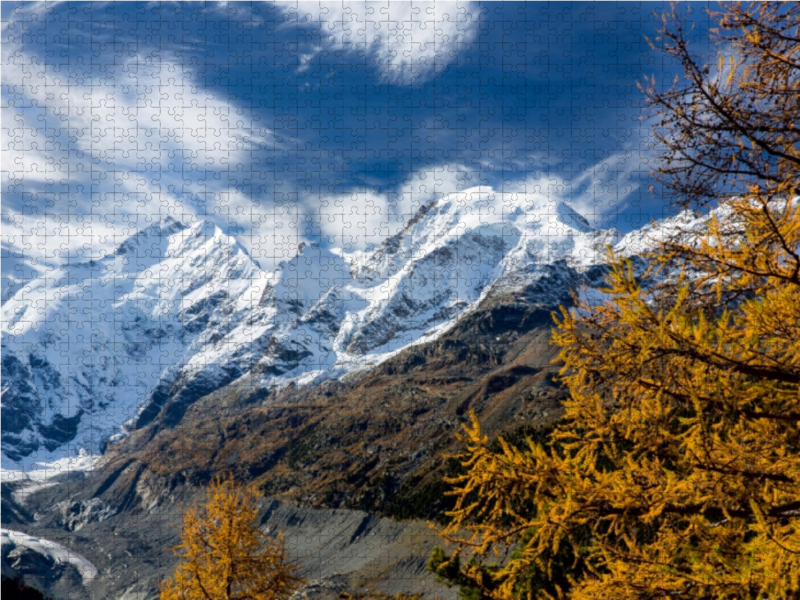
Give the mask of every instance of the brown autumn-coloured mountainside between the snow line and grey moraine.
[[[490, 434], [553, 423], [564, 392], [549, 344], [550, 308], [495, 298], [438, 340], [348, 381], [268, 392], [242, 379], [112, 448], [154, 475], [203, 483], [232, 471], [266, 494], [312, 507], [398, 518], [438, 516], [455, 433], [474, 410]], [[127, 469], [130, 471], [130, 469]]]

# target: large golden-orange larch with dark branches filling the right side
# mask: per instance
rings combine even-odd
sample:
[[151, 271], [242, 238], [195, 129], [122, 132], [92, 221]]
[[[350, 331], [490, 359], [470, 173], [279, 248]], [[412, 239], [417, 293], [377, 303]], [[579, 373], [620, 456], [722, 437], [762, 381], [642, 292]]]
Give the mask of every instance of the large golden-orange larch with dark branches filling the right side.
[[545, 442], [466, 427], [459, 551], [431, 568], [483, 596], [800, 597], [800, 6], [713, 17], [721, 62], [673, 15], [655, 43], [684, 77], [645, 89], [658, 176], [715, 210], [562, 309]]

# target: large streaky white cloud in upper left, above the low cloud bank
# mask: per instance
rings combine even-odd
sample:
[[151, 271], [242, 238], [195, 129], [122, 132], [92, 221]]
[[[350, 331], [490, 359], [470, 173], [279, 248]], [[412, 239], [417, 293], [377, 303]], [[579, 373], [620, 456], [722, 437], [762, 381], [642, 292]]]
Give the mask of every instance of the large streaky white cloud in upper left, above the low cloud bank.
[[3, 145], [12, 172], [41, 179], [30, 161], [45, 144], [55, 160], [80, 151], [117, 168], [226, 170], [249, 164], [249, 151], [271, 139], [243, 108], [197, 86], [190, 65], [150, 55], [97, 73], [67, 69], [19, 51], [6, 61], [2, 83], [20, 99], [4, 119], [14, 121]]

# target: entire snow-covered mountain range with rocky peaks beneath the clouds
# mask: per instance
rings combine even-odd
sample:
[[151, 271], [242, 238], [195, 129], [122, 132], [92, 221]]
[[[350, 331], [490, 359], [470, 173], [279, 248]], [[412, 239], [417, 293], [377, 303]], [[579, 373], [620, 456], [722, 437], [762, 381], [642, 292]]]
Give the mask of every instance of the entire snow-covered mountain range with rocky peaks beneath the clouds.
[[372, 252], [301, 244], [268, 272], [210, 222], [167, 218], [4, 303], [4, 461], [97, 453], [157, 416], [177, 423], [245, 374], [281, 387], [370, 368], [434, 339], [492, 290], [644, 243], [631, 235], [595, 230], [566, 204], [473, 188], [422, 208]]

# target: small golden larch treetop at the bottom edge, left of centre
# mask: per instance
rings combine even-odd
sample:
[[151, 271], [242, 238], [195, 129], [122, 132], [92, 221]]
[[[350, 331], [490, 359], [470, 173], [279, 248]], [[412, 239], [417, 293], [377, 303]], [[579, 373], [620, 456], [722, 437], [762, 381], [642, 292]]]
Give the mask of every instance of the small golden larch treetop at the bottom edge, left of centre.
[[258, 528], [257, 496], [217, 478], [207, 501], [183, 514], [181, 561], [161, 585], [161, 600], [283, 600], [300, 586], [283, 536]]

